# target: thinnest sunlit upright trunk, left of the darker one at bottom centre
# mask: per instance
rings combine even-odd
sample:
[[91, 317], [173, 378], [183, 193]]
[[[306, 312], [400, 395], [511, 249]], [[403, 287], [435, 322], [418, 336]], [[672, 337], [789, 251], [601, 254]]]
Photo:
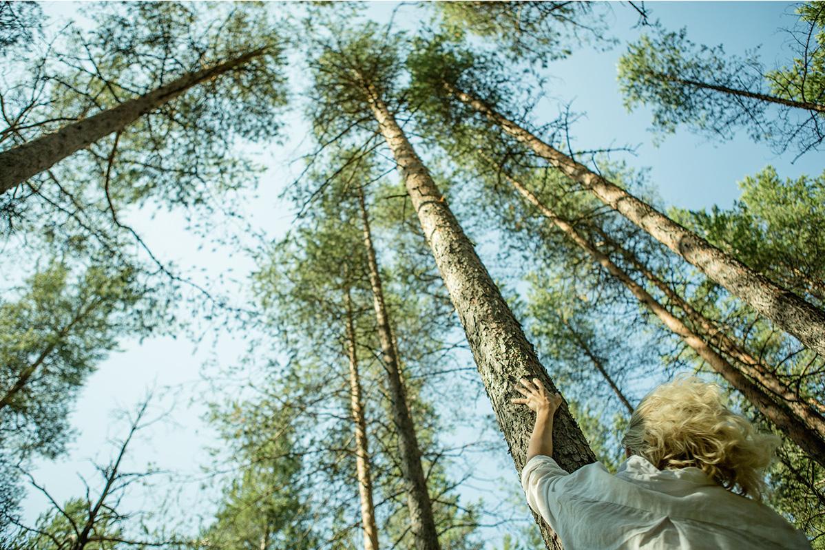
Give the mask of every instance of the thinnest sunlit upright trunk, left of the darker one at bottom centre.
[[361, 377], [358, 374], [356, 330], [352, 320], [352, 300], [347, 289], [347, 355], [350, 360], [350, 411], [356, 425], [356, 472], [358, 495], [361, 498], [361, 524], [364, 529], [364, 550], [378, 550], [378, 529], [375, 527], [375, 505], [372, 500], [370, 446], [366, 437], [364, 404], [361, 400]]

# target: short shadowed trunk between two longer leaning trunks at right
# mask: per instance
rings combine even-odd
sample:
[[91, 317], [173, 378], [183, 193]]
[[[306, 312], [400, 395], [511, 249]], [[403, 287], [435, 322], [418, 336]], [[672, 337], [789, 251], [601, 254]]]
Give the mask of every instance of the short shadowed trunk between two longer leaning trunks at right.
[[794, 391], [793, 388], [783, 383], [782, 380], [775, 375], [775, 369], [758, 360], [751, 352], [745, 349], [742, 342], [728, 336], [728, 333], [723, 327], [719, 327], [719, 324], [697, 311], [691, 303], [683, 299], [669, 284], [660, 279], [653, 271], [649, 270], [648, 267], [636, 257], [633, 251], [629, 251], [618, 242], [615, 242], [615, 240], [601, 230], [601, 228], [595, 226], [594, 228], [608, 247], [619, 251], [622, 256], [625, 256], [634, 266], [635, 270], [639, 271], [639, 273], [644, 275], [645, 279], [649, 280], [656, 288], [661, 290], [662, 294], [665, 294], [671, 303], [684, 311], [695, 327], [698, 327], [705, 335], [707, 340], [712, 342], [719, 350], [724, 351], [724, 353], [742, 363], [742, 370], [745, 374], [758, 383], [761, 383], [765, 388], [775, 393], [776, 396], [784, 399], [788, 403], [788, 407], [810, 424], [811, 430], [817, 431], [819, 435], [825, 438], [825, 418], [822, 416], [823, 411], [825, 411], [825, 405], [823, 405], [823, 403], [813, 398], [799, 397], [799, 392]]

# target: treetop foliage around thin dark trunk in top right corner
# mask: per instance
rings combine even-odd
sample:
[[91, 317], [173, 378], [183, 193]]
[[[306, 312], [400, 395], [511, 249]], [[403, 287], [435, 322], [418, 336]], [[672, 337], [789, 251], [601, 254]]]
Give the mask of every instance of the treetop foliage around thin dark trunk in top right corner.
[[743, 128], [778, 152], [791, 145], [799, 155], [818, 150], [825, 110], [825, 31], [818, 2], [799, 6], [790, 29], [794, 59], [773, 70], [756, 51], [744, 58], [725, 54], [721, 45], [696, 45], [678, 32], [656, 28], [629, 45], [619, 61], [625, 106], [653, 109], [653, 128], [672, 134], [687, 125], [703, 134], [730, 139]]

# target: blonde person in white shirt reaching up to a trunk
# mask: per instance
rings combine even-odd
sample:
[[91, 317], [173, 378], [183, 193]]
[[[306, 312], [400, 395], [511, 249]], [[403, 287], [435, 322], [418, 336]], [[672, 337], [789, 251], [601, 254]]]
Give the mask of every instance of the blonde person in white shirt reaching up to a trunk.
[[648, 393], [630, 417], [615, 475], [601, 463], [560, 468], [552, 428], [562, 397], [537, 378], [516, 390], [523, 397], [512, 402], [536, 413], [521, 485], [565, 550], [811, 548], [761, 503], [779, 438], [725, 407], [717, 385], [676, 378]]

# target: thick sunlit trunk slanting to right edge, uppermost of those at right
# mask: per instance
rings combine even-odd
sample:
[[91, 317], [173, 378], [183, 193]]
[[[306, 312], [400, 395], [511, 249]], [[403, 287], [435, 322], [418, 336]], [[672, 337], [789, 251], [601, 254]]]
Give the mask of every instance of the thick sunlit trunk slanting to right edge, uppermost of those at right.
[[783, 331], [796, 336], [804, 346], [825, 356], [825, 312], [790, 290], [783, 289], [765, 276], [759, 275], [742, 262], [669, 219], [665, 214], [653, 209], [643, 200], [630, 195], [573, 158], [544, 143], [512, 120], [507, 120], [479, 98], [461, 92], [450, 84], [445, 83], [445, 86], [447, 91], [460, 101], [487, 116], [513, 138], [525, 143], [537, 155], [544, 157], [583, 188], [590, 190], [603, 203], [699, 268], [711, 280], [749, 303]]

